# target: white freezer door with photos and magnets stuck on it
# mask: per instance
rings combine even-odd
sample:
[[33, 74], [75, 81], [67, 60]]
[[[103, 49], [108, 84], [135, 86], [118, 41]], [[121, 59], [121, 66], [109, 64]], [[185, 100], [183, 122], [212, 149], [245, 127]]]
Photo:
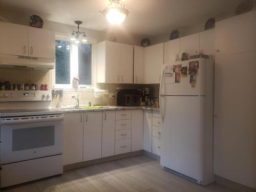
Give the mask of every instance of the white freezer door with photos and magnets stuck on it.
[[[197, 61], [199, 63], [199, 68], [197, 75], [194, 76], [196, 78], [196, 83], [194, 83], [193, 86], [191, 82], [195, 79], [190, 80], [191, 75], [188, 74], [189, 63], [195, 63]], [[166, 71], [164, 72], [164, 68], [166, 66], [168, 67], [168, 65], [164, 65], [162, 69], [160, 95], [205, 95], [205, 62], [205, 58], [181, 61], [180, 65], [183, 69], [187, 68], [187, 74], [178, 72], [176, 75], [174, 72], [173, 76], [169, 73], [166, 73]], [[212, 74], [213, 73], [214, 71], [212, 71]]]

